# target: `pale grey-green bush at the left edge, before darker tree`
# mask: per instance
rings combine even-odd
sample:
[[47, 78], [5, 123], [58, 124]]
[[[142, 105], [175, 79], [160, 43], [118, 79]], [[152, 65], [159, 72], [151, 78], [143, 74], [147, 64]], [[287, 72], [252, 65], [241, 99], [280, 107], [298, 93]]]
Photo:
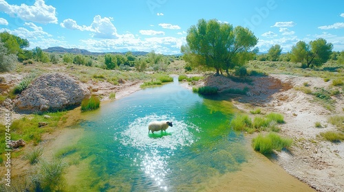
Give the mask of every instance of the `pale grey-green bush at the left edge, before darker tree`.
[[12, 71], [15, 68], [17, 56], [13, 53], [8, 53], [8, 49], [3, 42], [0, 42], [0, 73]]

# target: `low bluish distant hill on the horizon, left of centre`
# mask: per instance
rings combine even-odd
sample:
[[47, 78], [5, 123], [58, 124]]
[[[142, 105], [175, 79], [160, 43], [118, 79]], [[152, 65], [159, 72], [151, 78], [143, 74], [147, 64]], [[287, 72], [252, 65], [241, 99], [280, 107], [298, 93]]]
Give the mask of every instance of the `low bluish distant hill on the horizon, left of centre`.
[[[72, 48], [72, 49], [67, 49], [63, 47], [49, 47], [47, 49], [43, 49], [43, 51], [48, 52], [48, 53], [72, 53], [72, 54], [82, 54], [82, 55], [92, 55], [92, 56], [100, 56], [100, 55], [105, 55], [106, 53], [98, 53], [98, 52], [91, 52], [87, 51], [86, 49], [78, 49], [78, 48]], [[120, 53], [120, 52], [107, 52], [107, 53], [112, 53], [112, 54], [122, 54], [125, 55], [125, 53]], [[147, 55], [148, 52], [144, 51], [131, 51], [134, 56], [145, 56]]]

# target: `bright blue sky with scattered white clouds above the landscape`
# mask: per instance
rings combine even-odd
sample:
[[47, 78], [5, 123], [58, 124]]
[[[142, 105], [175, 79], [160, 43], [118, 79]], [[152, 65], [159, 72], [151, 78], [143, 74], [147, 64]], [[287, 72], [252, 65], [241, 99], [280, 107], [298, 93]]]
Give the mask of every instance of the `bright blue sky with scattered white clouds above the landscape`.
[[266, 52], [290, 51], [299, 40], [325, 38], [344, 50], [344, 1], [320, 0], [0, 0], [0, 32], [27, 38], [30, 48], [180, 53], [199, 19], [248, 27]]

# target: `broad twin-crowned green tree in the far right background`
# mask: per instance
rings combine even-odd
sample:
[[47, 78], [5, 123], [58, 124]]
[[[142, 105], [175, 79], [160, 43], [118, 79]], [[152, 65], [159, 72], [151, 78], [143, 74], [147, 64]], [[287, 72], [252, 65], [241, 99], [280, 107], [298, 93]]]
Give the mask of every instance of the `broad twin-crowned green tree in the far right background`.
[[309, 44], [300, 40], [296, 46], [292, 46], [291, 60], [307, 67], [319, 67], [330, 58], [332, 49], [332, 43], [327, 43], [323, 38], [312, 40]]

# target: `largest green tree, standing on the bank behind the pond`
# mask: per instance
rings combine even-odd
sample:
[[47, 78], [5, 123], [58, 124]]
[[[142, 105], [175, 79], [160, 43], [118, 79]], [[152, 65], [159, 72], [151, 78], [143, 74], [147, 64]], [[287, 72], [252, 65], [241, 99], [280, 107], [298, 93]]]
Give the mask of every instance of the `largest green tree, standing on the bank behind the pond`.
[[187, 45], [181, 47], [184, 59], [191, 64], [215, 68], [216, 74], [244, 64], [252, 58], [258, 39], [248, 28], [233, 27], [216, 19], [200, 19], [188, 30]]

